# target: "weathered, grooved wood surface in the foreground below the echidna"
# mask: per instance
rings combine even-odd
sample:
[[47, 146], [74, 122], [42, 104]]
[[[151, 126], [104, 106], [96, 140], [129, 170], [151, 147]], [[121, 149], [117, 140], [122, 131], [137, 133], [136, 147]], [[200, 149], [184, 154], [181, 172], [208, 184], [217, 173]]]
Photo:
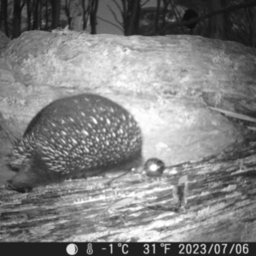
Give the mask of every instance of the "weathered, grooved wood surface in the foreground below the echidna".
[[[256, 241], [256, 140], [229, 150], [111, 186], [94, 177], [30, 194], [2, 187], [0, 241]], [[175, 210], [172, 188], [183, 175], [188, 203]]]

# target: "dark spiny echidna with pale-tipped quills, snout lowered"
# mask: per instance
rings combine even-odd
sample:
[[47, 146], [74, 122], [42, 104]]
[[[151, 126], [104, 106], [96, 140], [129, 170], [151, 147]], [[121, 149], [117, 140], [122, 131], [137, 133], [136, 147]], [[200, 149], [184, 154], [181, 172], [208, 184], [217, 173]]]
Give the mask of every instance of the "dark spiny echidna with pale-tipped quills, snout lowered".
[[[27, 126], [9, 155], [6, 188], [29, 192], [69, 177], [141, 165], [142, 133], [125, 108], [94, 94], [56, 100]], [[136, 167], [136, 166], [135, 166]]]

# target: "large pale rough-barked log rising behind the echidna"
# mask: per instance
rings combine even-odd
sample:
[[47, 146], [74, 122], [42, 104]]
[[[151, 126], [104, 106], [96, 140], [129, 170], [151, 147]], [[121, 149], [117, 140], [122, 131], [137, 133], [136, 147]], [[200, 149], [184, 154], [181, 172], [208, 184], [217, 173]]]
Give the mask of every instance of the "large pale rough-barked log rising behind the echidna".
[[22, 134], [49, 102], [94, 92], [135, 116], [145, 159], [198, 160], [241, 139], [241, 127], [208, 107], [254, 115], [255, 56], [201, 37], [24, 32], [1, 59], [0, 111]]

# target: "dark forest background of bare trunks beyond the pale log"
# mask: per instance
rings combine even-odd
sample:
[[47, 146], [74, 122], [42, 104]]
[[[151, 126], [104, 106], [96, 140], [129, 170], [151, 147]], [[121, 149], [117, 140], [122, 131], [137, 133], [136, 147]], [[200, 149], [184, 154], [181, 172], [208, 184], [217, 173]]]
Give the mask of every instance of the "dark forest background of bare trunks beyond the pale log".
[[[97, 33], [99, 20], [125, 36], [194, 34], [255, 47], [256, 0], [108, 0], [108, 17], [98, 15], [100, 0], [1, 0], [0, 29], [9, 38], [30, 30]], [[154, 6], [148, 7], [148, 3]]]

